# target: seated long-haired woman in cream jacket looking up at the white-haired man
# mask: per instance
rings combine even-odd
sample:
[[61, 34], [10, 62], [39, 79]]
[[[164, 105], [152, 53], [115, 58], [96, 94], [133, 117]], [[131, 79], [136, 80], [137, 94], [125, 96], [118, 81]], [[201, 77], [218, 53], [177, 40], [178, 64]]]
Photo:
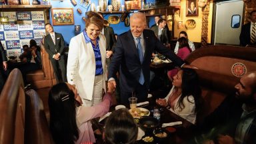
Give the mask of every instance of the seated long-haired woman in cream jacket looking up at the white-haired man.
[[183, 68], [173, 77], [173, 87], [165, 99], [157, 99], [157, 104], [195, 124], [197, 111], [201, 107], [201, 88], [197, 73]]

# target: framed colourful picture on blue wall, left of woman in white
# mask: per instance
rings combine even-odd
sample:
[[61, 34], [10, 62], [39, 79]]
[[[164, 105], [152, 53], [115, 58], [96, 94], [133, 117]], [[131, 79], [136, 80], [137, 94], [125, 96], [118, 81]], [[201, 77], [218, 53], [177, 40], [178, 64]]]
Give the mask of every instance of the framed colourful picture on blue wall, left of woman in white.
[[73, 8], [52, 8], [51, 20], [53, 25], [74, 25]]

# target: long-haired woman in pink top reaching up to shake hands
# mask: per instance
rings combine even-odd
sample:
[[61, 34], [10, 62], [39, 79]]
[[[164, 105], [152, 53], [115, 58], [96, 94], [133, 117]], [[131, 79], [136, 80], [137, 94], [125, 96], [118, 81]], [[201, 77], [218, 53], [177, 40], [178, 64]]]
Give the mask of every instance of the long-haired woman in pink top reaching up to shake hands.
[[109, 111], [114, 85], [108, 85], [103, 101], [93, 107], [82, 105], [75, 85], [58, 83], [49, 91], [50, 130], [56, 144], [95, 143], [91, 119]]

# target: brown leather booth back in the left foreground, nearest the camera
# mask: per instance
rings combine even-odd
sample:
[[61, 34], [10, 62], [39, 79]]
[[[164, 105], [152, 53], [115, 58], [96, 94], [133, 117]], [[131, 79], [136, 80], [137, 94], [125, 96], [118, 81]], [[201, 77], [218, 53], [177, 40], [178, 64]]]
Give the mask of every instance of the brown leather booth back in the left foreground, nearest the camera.
[[0, 95], [0, 143], [53, 143], [43, 103], [34, 90], [24, 91], [19, 69], [11, 71]]

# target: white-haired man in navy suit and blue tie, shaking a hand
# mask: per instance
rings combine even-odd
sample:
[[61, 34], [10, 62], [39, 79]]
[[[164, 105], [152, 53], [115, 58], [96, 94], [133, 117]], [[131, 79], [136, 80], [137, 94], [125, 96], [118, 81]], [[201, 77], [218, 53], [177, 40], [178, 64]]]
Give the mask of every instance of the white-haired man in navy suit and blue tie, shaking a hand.
[[115, 73], [119, 69], [119, 85], [121, 103], [129, 103], [132, 93], [138, 101], [145, 101], [149, 90], [149, 71], [151, 53], [158, 51], [166, 55], [173, 63], [181, 67], [185, 64], [172, 51], [167, 49], [155, 37], [153, 31], [145, 29], [146, 17], [144, 13], [134, 13], [130, 19], [129, 31], [117, 37], [115, 55], [109, 65], [109, 83], [115, 83]]

